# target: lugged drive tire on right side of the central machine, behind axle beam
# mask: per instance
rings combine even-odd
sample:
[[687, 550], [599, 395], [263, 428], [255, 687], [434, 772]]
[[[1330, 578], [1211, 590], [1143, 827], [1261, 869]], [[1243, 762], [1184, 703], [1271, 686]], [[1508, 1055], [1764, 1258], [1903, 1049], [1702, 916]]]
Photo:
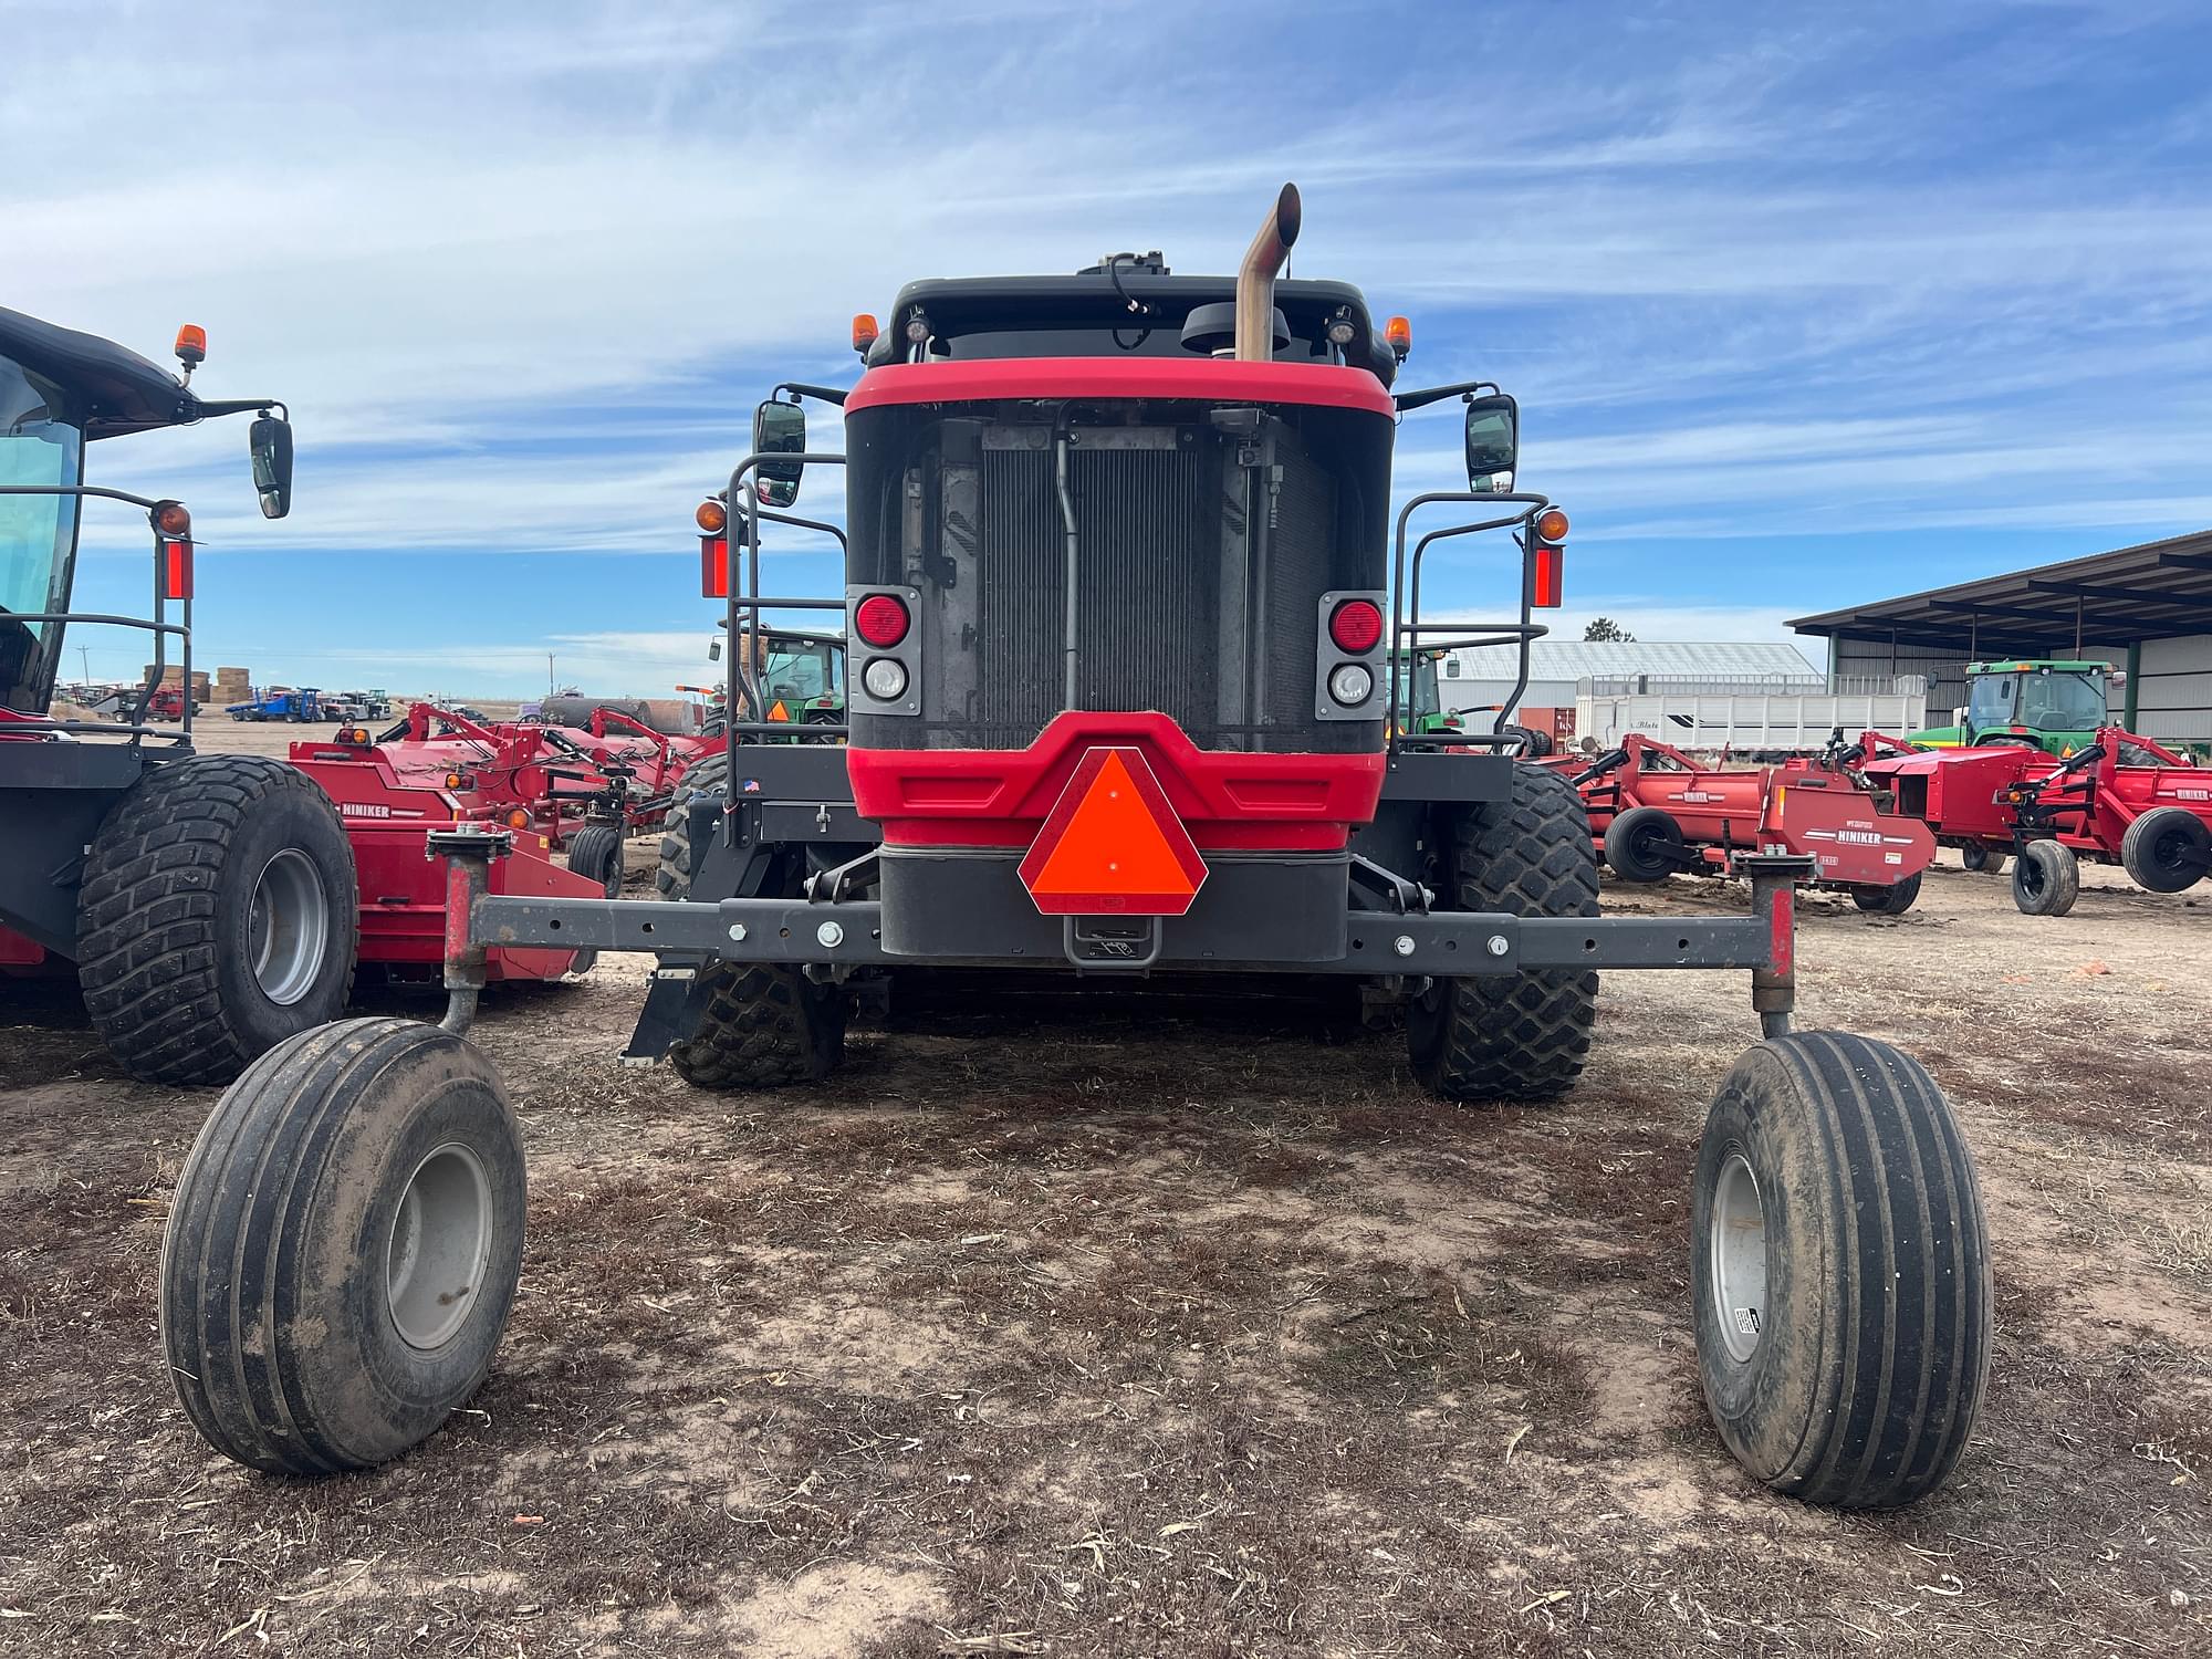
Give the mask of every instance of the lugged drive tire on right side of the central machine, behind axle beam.
[[[1590, 818], [1557, 772], [1513, 768], [1513, 799], [1451, 821], [1433, 883], [1442, 909], [1597, 916]], [[1597, 973], [1438, 978], [1407, 1006], [1407, 1057], [1444, 1099], [1551, 1099], [1582, 1075]]]

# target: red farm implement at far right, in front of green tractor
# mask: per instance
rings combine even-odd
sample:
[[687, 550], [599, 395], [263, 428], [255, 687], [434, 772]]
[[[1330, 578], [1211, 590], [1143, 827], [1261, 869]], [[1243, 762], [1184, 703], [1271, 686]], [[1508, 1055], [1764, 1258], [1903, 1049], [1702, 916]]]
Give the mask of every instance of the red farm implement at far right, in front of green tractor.
[[1863, 739], [1865, 776], [1893, 810], [1920, 818], [1969, 869], [2013, 856], [2013, 902], [2064, 916], [2081, 889], [2079, 860], [2119, 865], [2137, 887], [2179, 894], [2212, 872], [2212, 770], [2148, 737], [2101, 726], [2066, 757], [2022, 743], [1909, 752]]

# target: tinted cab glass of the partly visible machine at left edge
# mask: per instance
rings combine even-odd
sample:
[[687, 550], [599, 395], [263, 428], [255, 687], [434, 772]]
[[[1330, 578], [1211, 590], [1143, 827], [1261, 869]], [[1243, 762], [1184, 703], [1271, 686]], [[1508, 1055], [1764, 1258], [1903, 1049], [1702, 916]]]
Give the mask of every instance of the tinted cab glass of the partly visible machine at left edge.
[[[60, 418], [44, 380], [0, 358], [0, 484], [53, 491], [80, 482], [84, 436]], [[66, 611], [77, 542], [75, 495], [0, 493], [0, 703], [44, 712], [62, 633], [18, 613]]]

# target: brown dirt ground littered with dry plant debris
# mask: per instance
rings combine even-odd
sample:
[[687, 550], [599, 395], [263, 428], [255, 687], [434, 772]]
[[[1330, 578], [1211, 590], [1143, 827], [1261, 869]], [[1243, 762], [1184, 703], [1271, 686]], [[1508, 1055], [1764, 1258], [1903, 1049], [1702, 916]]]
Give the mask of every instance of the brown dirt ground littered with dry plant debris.
[[2108, 872], [2064, 920], [1955, 867], [1902, 918], [1807, 900], [1801, 1022], [1936, 1071], [1997, 1263], [1978, 1436], [1893, 1515], [1772, 1498], [1705, 1422], [1686, 1201], [1741, 975], [1608, 975], [1548, 1108], [1281, 1009], [998, 1002], [699, 1095], [613, 1060], [639, 958], [493, 993], [500, 1363], [319, 1484], [164, 1378], [212, 1093], [0, 987], [0, 1650], [2212, 1652], [2208, 940], [2212, 898]]

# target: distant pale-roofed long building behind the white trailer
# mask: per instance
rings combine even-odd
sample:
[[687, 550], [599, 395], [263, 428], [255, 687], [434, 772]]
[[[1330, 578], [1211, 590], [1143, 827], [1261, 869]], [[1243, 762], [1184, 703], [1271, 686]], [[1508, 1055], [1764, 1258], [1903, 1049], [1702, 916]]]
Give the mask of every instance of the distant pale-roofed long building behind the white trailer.
[[[1438, 666], [1444, 708], [1498, 708], [1513, 692], [1520, 653], [1513, 646], [1453, 650]], [[1672, 690], [1703, 681], [1743, 684], [1745, 690], [1825, 690], [1827, 675], [1796, 646], [1679, 641], [1679, 639], [1537, 639], [1528, 646], [1524, 712], [1575, 708], [1584, 679], [1608, 681], [1608, 690]], [[1630, 684], [1610, 684], [1630, 681]], [[1635, 684], [1663, 681], [1663, 684]], [[1526, 723], [1526, 721], [1522, 721]]]

